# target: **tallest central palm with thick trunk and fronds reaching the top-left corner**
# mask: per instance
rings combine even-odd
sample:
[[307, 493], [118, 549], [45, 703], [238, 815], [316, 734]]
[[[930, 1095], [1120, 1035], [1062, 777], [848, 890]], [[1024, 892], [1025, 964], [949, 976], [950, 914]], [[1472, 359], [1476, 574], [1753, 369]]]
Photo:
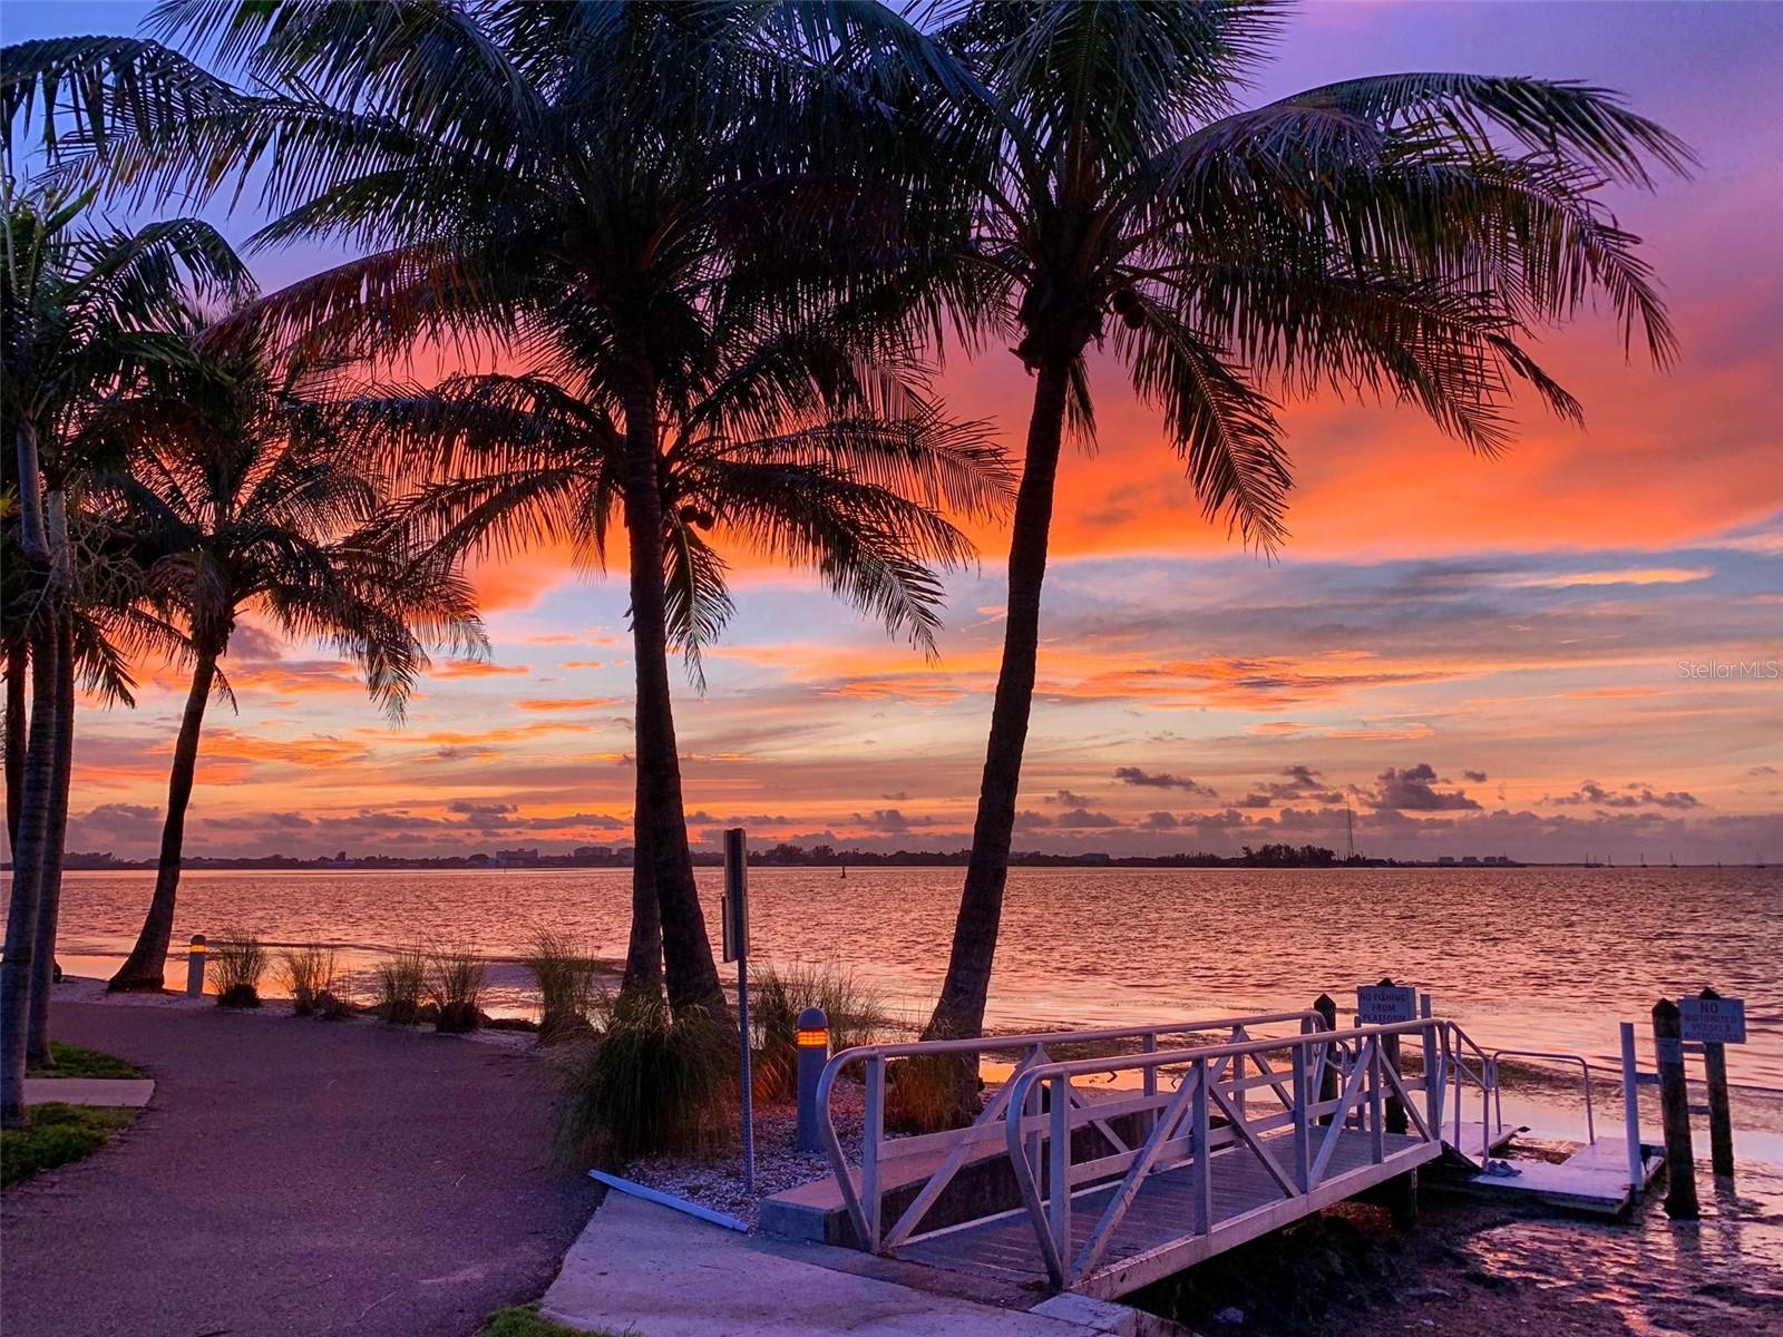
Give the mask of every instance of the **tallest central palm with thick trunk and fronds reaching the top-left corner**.
[[[547, 371], [565, 339], [601, 353], [601, 396], [626, 439], [638, 895], [660, 906], [670, 1002], [722, 1007], [661, 652], [660, 424], [713, 346], [719, 287], [738, 328], [774, 328], [883, 280], [909, 160], [883, 137], [875, 155], [827, 150], [890, 118], [858, 84], [829, 78], [847, 62], [824, 52], [890, 16], [747, 0], [171, 0], [155, 21], [264, 91], [153, 41], [93, 37], [11, 48], [0, 94], [41, 105], [52, 157], [102, 169], [130, 198], [209, 198], [257, 180], [276, 216], [259, 242], [328, 237], [366, 251], [244, 321], [362, 353], [487, 339]], [[877, 291], [863, 316], [902, 316], [886, 310], [895, 289]], [[924, 308], [927, 296], [900, 301]]]

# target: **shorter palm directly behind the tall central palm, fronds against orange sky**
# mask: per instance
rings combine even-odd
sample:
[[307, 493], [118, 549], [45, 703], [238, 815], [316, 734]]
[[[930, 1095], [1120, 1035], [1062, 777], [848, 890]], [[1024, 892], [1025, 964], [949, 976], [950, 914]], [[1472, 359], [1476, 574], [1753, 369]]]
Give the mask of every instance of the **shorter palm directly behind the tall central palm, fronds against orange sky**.
[[[815, 569], [834, 594], [934, 654], [941, 588], [931, 567], [972, 553], [938, 512], [995, 513], [1007, 471], [979, 424], [947, 421], [908, 367], [861, 362], [838, 330], [763, 337], [729, 328], [720, 308], [703, 373], [663, 394], [649, 476], [665, 636], [638, 635], [633, 617], [635, 652], [651, 656], [663, 677], [678, 649], [704, 690], [701, 649], [733, 611], [720, 540]], [[604, 569], [615, 526], [626, 528], [629, 547], [642, 547], [624, 405], [603, 357], [588, 349], [588, 365], [574, 374], [560, 360], [556, 378], [456, 376], [431, 390], [346, 405], [369, 447], [421, 469], [424, 481], [396, 515], [407, 542], [453, 556], [567, 542], [592, 569]], [[633, 597], [638, 583], [633, 569]], [[661, 710], [667, 717], [667, 699]], [[638, 733], [651, 731], [640, 724]], [[672, 717], [656, 733], [672, 740]], [[640, 811], [645, 784], [640, 758]], [[638, 829], [640, 840], [661, 838], [642, 820]], [[658, 991], [661, 956], [656, 897], [638, 879], [626, 991]]]

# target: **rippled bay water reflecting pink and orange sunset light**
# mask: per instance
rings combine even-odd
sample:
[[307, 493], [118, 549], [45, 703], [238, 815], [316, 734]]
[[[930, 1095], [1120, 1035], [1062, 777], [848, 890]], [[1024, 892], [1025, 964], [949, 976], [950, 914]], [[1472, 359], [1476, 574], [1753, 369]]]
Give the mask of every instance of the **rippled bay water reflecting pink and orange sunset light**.
[[[701, 870], [717, 932], [720, 874]], [[100, 973], [130, 945], [152, 874], [71, 874], [62, 957]], [[758, 959], [850, 966], [916, 1018], [947, 963], [961, 870], [752, 870]], [[196, 872], [175, 941], [250, 929], [325, 941], [349, 964], [415, 941], [514, 957], [551, 927], [620, 957], [629, 874]], [[169, 972], [177, 973], [177, 972]], [[1305, 1007], [1393, 975], [1482, 1043], [1615, 1062], [1621, 1020], [1713, 984], [1747, 1000], [1737, 1084], [1783, 1091], [1783, 870], [1016, 868], [990, 1021], [1000, 1029], [1155, 1021]], [[497, 1002], [524, 1005], [524, 972]]]

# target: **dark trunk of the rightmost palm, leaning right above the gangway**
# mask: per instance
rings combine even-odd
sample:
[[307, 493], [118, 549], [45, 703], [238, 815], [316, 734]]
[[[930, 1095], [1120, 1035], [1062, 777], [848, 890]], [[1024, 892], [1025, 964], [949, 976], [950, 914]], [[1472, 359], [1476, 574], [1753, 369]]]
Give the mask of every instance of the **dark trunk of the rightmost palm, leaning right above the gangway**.
[[1009, 611], [1004, 619], [1004, 658], [991, 708], [991, 736], [984, 749], [984, 781], [972, 829], [966, 886], [954, 922], [954, 950], [927, 1036], [977, 1036], [984, 1029], [984, 1002], [991, 988], [997, 929], [1002, 922], [1004, 884], [1009, 877], [1009, 841], [1015, 800], [1022, 783], [1022, 751], [1034, 704], [1034, 661], [1039, 654], [1039, 586], [1047, 578], [1047, 535], [1052, 528], [1052, 490], [1064, 435], [1068, 364], [1043, 364], [1034, 383], [1027, 424], [1027, 460], [1015, 503], [1009, 540]]

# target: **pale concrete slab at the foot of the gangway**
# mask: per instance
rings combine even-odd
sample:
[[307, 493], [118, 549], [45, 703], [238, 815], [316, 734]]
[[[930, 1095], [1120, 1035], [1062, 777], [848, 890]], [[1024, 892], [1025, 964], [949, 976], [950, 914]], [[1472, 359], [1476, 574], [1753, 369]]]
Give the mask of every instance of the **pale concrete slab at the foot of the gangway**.
[[[863, 1275], [874, 1262], [849, 1250], [742, 1235], [610, 1193], [565, 1255], [540, 1312], [571, 1328], [638, 1337], [1155, 1337], [1177, 1330], [1080, 1296], [1056, 1296], [1039, 1312], [918, 1291]], [[1034, 1300], [1022, 1294], [1018, 1303]]]

